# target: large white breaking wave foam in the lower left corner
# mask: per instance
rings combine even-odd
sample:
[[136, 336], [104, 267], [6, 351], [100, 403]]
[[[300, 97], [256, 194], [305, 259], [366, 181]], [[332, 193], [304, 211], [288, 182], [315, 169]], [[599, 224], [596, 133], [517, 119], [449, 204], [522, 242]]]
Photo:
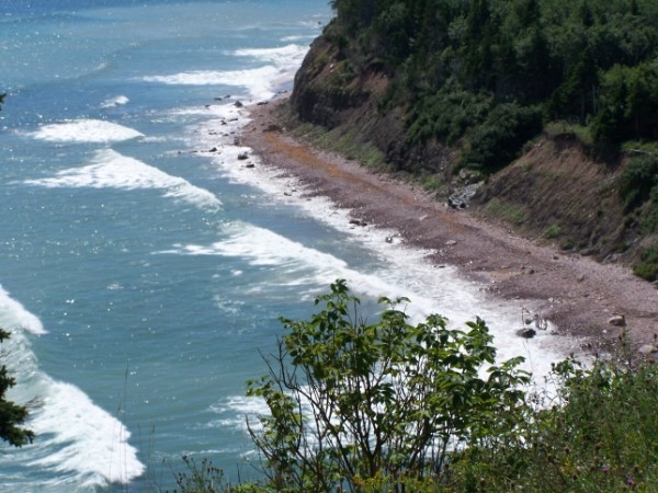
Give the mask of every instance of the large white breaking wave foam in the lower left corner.
[[[24, 322], [30, 322], [24, 325]], [[34, 431], [33, 445], [5, 452], [3, 460], [14, 468], [39, 467], [52, 475], [48, 491], [77, 491], [80, 488], [127, 484], [144, 473], [137, 450], [128, 443], [128, 429], [95, 405], [79, 388], [44, 374], [32, 349], [29, 333], [41, 321], [10, 298], [0, 287], [0, 326], [11, 332], [2, 344], [3, 363], [11, 368], [16, 386], [9, 398], [19, 403], [34, 402], [26, 426]], [[14, 491], [31, 486], [16, 485]]]

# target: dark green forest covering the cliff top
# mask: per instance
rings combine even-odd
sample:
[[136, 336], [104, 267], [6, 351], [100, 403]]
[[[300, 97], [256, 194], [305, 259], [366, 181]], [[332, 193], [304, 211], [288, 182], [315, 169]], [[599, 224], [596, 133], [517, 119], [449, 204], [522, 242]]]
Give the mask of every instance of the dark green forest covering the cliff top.
[[658, 139], [655, 1], [331, 5], [343, 45], [390, 76], [384, 106], [408, 108], [410, 142], [466, 137], [465, 164], [497, 168], [509, 156], [496, 151], [519, 148], [547, 121], [588, 125], [597, 141]]

